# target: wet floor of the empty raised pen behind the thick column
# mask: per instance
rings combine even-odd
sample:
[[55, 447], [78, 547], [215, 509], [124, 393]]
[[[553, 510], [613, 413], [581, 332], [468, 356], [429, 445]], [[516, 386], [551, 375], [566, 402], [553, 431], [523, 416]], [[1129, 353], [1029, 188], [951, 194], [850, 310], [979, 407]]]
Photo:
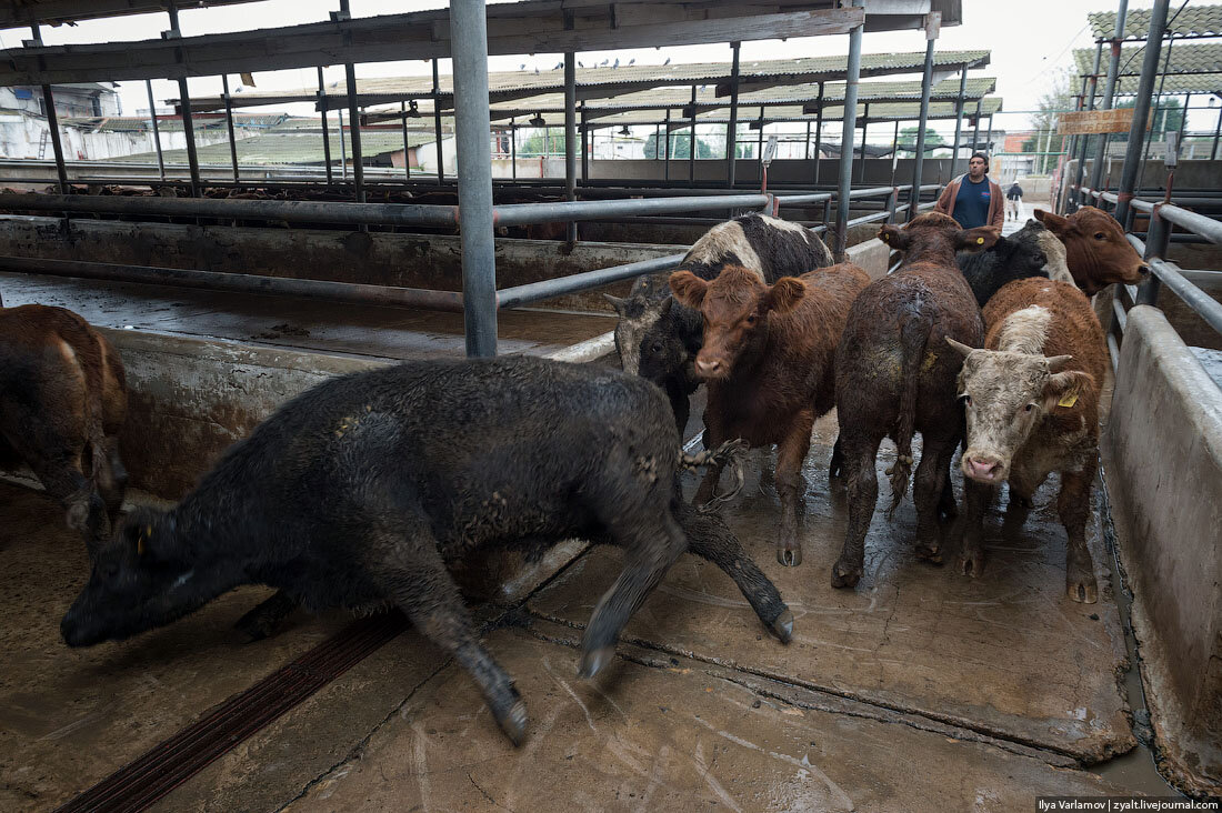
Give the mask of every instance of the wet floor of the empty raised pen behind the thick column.
[[[379, 358], [463, 356], [463, 314], [54, 276], [0, 274], [6, 307], [53, 304], [101, 328]], [[501, 353], [544, 356], [615, 329], [613, 314], [497, 313]]]

